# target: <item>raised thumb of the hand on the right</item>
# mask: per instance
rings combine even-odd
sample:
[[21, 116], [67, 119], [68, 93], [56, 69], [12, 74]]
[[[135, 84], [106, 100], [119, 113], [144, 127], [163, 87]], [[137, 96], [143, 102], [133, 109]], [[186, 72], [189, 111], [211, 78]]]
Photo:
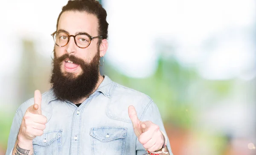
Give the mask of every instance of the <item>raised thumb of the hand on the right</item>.
[[134, 128], [134, 133], [138, 137], [142, 132], [140, 132], [140, 130], [138, 129], [138, 125], [140, 124], [140, 120], [137, 116], [137, 112], [136, 112], [134, 106], [130, 105], [128, 107], [128, 114], [129, 114], [129, 117], [131, 119], [131, 122], [132, 122], [132, 125], [133, 125], [133, 128]]

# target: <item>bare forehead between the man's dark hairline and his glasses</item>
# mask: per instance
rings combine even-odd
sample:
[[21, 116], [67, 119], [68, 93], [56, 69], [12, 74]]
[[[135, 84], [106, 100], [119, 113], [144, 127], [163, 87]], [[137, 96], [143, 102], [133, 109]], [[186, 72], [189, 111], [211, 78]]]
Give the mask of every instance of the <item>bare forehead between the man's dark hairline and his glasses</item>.
[[79, 11], [65, 11], [61, 14], [58, 28], [63, 29], [69, 34], [76, 34], [77, 32], [86, 32], [92, 36], [98, 34], [98, 20], [93, 14]]

